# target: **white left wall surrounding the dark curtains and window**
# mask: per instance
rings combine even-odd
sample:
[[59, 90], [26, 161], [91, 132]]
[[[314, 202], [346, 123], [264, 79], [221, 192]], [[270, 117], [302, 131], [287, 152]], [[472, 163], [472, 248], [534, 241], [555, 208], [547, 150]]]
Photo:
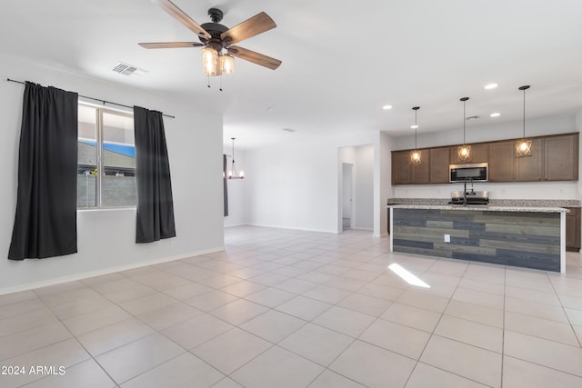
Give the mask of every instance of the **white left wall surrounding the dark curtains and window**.
[[[121, 76], [121, 75], [120, 75]], [[14, 224], [18, 142], [24, 85], [6, 78], [54, 85], [81, 95], [120, 104], [138, 104], [166, 114], [166, 140], [170, 156], [176, 238], [152, 244], [135, 244], [135, 210], [82, 211], [77, 213], [78, 254], [7, 260]], [[222, 117], [196, 112], [191, 102], [171, 96], [92, 80], [41, 67], [11, 57], [0, 62], [0, 293], [55, 284], [87, 275], [224, 248], [222, 207]]]

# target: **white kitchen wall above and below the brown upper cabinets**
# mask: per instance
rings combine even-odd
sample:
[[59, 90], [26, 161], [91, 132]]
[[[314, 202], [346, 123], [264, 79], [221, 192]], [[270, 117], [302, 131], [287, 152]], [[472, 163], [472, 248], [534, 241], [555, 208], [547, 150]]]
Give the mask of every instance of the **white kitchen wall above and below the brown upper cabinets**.
[[[567, 134], [580, 131], [581, 114], [543, 117], [527, 120], [527, 136]], [[578, 118], [577, 118], [578, 117]], [[467, 143], [487, 142], [521, 137], [523, 122], [467, 128]], [[462, 129], [418, 136], [418, 146], [459, 144]], [[393, 139], [394, 150], [408, 149], [414, 144], [413, 136]], [[580, 158], [582, 163], [582, 158]], [[581, 164], [582, 167], [582, 164]], [[579, 171], [582, 171], [580, 169]], [[578, 182], [535, 183], [476, 183], [476, 190], [488, 190], [491, 199], [579, 199]], [[392, 195], [396, 198], [449, 198], [451, 191], [463, 190], [463, 184], [410, 184], [397, 185]]]

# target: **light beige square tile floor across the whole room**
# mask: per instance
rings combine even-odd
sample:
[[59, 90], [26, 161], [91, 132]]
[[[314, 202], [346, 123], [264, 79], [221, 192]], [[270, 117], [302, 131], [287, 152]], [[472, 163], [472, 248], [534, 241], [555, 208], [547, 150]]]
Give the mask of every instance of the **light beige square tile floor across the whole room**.
[[580, 254], [561, 275], [388, 244], [233, 227], [223, 253], [0, 296], [0, 386], [582, 387]]

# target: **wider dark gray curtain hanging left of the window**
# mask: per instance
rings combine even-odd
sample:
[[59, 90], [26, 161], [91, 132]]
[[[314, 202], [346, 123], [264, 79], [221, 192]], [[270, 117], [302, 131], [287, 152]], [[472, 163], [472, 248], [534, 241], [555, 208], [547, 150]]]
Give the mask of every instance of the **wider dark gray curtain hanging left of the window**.
[[26, 82], [10, 260], [77, 252], [77, 97]]

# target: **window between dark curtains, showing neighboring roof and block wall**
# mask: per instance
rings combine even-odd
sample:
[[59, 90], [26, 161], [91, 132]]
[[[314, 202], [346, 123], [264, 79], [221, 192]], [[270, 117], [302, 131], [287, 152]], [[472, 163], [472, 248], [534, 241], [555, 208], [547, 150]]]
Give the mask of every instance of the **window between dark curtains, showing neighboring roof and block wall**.
[[77, 208], [137, 204], [133, 114], [79, 104]]

